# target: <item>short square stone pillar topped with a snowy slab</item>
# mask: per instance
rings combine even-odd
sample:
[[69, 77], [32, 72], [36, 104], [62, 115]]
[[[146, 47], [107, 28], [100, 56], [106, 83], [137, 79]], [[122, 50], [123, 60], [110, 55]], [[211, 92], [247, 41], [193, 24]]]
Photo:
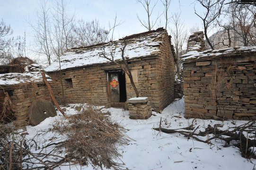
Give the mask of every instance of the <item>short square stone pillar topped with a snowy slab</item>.
[[152, 108], [148, 97], [133, 97], [128, 100], [130, 119], [148, 119]]

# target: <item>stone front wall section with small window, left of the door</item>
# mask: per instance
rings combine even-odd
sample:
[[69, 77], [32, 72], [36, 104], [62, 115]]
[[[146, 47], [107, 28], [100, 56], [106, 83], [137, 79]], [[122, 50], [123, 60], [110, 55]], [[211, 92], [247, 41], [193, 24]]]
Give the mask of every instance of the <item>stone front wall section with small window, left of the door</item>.
[[62, 77], [59, 72], [53, 72], [49, 75], [53, 79], [51, 86], [57, 102], [63, 102], [63, 84], [64, 102], [90, 102], [93, 104], [102, 103], [103, 105], [106, 105], [107, 76], [101, 65], [65, 70], [62, 71]]

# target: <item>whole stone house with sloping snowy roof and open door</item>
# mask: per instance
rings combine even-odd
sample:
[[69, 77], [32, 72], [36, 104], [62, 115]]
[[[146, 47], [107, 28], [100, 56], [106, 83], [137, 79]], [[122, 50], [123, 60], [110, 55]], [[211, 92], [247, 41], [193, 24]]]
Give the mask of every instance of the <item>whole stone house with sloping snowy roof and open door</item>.
[[[112, 53], [121, 63], [121, 48], [131, 68], [140, 96], [148, 97], [156, 111], [165, 108], [174, 99], [175, 63], [171, 38], [159, 28], [141, 34], [133, 34], [114, 42], [102, 43], [67, 50], [45, 69], [53, 78], [52, 88], [58, 102], [127, 106], [127, 100], [135, 92], [127, 75], [109, 60], [100, 57]], [[60, 65], [61, 73], [60, 74]]]

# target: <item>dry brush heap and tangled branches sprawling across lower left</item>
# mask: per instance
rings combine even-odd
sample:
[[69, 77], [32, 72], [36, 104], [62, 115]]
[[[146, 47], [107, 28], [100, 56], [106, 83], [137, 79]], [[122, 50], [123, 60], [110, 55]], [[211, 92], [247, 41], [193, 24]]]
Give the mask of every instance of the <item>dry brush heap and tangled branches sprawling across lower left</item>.
[[[3, 126], [2, 126], [3, 127]], [[91, 107], [68, 119], [55, 121], [46, 133], [52, 138], [44, 142], [26, 139], [11, 128], [0, 133], [0, 169], [53, 170], [73, 164], [121, 169], [121, 156], [115, 146], [128, 143], [125, 129], [109, 119], [109, 115]], [[42, 145], [43, 144], [43, 145]]]

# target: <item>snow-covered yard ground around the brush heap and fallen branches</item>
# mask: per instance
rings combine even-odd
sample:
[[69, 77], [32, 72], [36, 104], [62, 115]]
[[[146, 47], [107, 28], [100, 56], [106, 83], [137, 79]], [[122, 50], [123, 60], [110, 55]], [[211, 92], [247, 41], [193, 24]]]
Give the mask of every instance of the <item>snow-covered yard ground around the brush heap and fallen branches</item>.
[[[77, 113], [72, 107], [67, 107], [67, 114]], [[162, 127], [177, 129], [188, 127], [193, 119], [184, 118], [184, 100], [177, 100], [163, 110], [161, 114], [153, 112], [147, 120], [129, 119], [129, 112], [122, 109], [109, 108], [111, 118], [129, 129], [126, 135], [132, 138], [128, 145], [119, 146], [122, 157], [118, 161], [124, 163], [123, 168], [129, 170], [253, 170], [256, 160], [247, 160], [241, 157], [238, 148], [223, 147], [220, 140], [212, 140], [213, 145], [204, 144], [188, 139], [179, 134], [165, 134], [153, 130], [159, 127], [162, 118]], [[27, 127], [29, 134], [26, 138], [34, 137], [35, 140], [45, 141], [53, 138], [53, 133], [46, 133], [49, 125], [56, 119], [63, 119], [61, 113], [54, 118], [45, 119], [35, 127]], [[207, 125], [223, 124], [221, 129], [239, 126], [247, 121], [216, 121], [196, 119], [194, 125], [200, 125], [199, 130], [204, 131]], [[234, 122], [233, 122], [234, 123]], [[24, 132], [24, 131], [23, 131]], [[36, 136], [36, 137], [35, 137]], [[207, 137], [201, 138], [206, 140]], [[40, 143], [40, 142], [39, 142]], [[122, 160], [122, 161], [121, 161]], [[97, 168], [97, 167], [96, 167]], [[93, 170], [93, 166], [62, 166], [61, 170]], [[100, 168], [97, 168], [100, 170]]]

